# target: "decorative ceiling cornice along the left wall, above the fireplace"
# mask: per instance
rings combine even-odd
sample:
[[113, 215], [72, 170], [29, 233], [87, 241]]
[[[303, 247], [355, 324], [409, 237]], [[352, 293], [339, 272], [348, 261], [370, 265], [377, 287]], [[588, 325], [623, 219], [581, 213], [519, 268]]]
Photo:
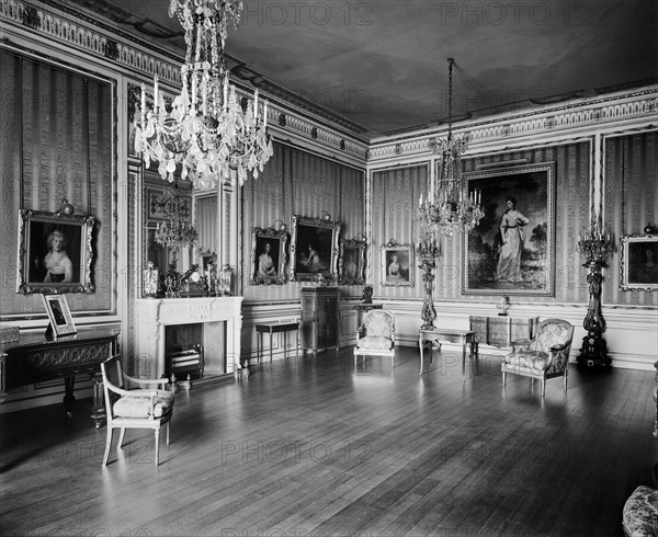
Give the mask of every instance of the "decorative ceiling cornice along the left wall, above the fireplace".
[[[18, 35], [56, 44], [60, 49], [93, 58], [124, 73], [135, 75], [134, 83], [157, 75], [163, 88], [180, 88], [182, 56], [154, 47], [145, 41], [121, 31], [91, 14], [63, 5], [59, 2], [21, 2], [0, 0], [0, 23], [13, 27]], [[9, 41], [9, 33], [3, 32]], [[269, 121], [280, 130], [290, 132], [297, 138], [308, 139], [310, 145], [324, 145], [336, 155], [345, 155], [350, 161], [365, 164], [367, 141], [360, 136], [363, 129], [325, 108], [305, 102], [300, 96], [273, 84], [245, 65], [229, 59], [232, 82], [238, 93], [247, 96], [249, 87], [256, 87], [270, 100]], [[232, 65], [230, 65], [232, 64]], [[249, 84], [249, 85], [247, 85]]]

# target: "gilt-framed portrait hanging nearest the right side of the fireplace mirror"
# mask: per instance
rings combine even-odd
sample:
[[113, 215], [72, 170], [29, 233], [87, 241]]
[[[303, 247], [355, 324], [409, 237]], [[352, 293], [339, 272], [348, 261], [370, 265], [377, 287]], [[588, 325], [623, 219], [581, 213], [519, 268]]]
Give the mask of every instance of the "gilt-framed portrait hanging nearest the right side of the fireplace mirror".
[[287, 263], [287, 231], [253, 228], [251, 231], [251, 285], [283, 285]]

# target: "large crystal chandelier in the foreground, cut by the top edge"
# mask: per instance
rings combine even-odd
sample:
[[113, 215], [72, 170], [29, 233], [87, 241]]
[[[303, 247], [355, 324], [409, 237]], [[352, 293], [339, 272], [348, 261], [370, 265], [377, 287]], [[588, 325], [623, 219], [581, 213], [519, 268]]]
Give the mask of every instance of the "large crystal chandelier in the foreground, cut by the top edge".
[[241, 11], [238, 0], [170, 1], [169, 16], [175, 15], [185, 31], [181, 92], [168, 106], [156, 76], [152, 106], [147, 107], [141, 84], [140, 114], [135, 119], [135, 150], [147, 167], [159, 162], [162, 179], [173, 182], [180, 165], [182, 179], [208, 188], [227, 180], [232, 169], [242, 185], [247, 172], [258, 178], [272, 156], [265, 133], [268, 102], [259, 103], [256, 90], [242, 110], [225, 66], [228, 24], [237, 28]]

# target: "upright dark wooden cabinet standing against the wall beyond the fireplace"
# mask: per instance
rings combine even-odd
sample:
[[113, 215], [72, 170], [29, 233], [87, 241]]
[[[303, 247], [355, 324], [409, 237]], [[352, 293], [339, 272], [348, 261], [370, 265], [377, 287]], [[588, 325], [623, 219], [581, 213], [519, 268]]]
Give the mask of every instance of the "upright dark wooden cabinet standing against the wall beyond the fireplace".
[[336, 347], [339, 340], [339, 292], [338, 287], [302, 288], [302, 349]]

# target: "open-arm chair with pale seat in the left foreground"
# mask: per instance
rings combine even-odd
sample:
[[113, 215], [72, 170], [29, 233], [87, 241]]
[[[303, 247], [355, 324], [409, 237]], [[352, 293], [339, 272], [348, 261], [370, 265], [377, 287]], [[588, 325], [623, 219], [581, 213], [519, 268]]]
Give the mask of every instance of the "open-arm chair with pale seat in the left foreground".
[[116, 449], [123, 446], [126, 429], [152, 429], [156, 436], [156, 466], [159, 464], [160, 427], [167, 425], [167, 445], [169, 445], [169, 421], [173, 413], [174, 396], [163, 389], [127, 389], [126, 382], [137, 386], [163, 385], [166, 378], [140, 379], [123, 373], [121, 357], [113, 356], [101, 364], [105, 411], [107, 413], [107, 439], [103, 466], [107, 464], [112, 434], [121, 429]]

